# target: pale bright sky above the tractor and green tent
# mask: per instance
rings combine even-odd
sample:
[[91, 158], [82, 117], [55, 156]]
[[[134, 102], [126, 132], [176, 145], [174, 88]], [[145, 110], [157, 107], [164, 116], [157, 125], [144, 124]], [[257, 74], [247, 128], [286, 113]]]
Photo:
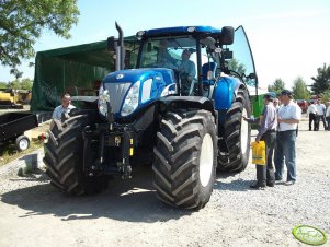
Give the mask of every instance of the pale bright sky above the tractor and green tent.
[[[260, 87], [266, 89], [282, 79], [291, 89], [298, 77], [312, 84], [311, 77], [325, 63], [330, 66], [329, 0], [78, 0], [78, 24], [71, 38], [57, 37], [44, 31], [34, 45], [35, 51], [56, 49], [117, 36], [115, 21], [124, 36], [140, 30], [209, 25], [237, 27], [242, 25], [252, 49]], [[24, 60], [22, 78], [34, 78], [34, 68]], [[14, 77], [0, 67], [0, 81]]]

